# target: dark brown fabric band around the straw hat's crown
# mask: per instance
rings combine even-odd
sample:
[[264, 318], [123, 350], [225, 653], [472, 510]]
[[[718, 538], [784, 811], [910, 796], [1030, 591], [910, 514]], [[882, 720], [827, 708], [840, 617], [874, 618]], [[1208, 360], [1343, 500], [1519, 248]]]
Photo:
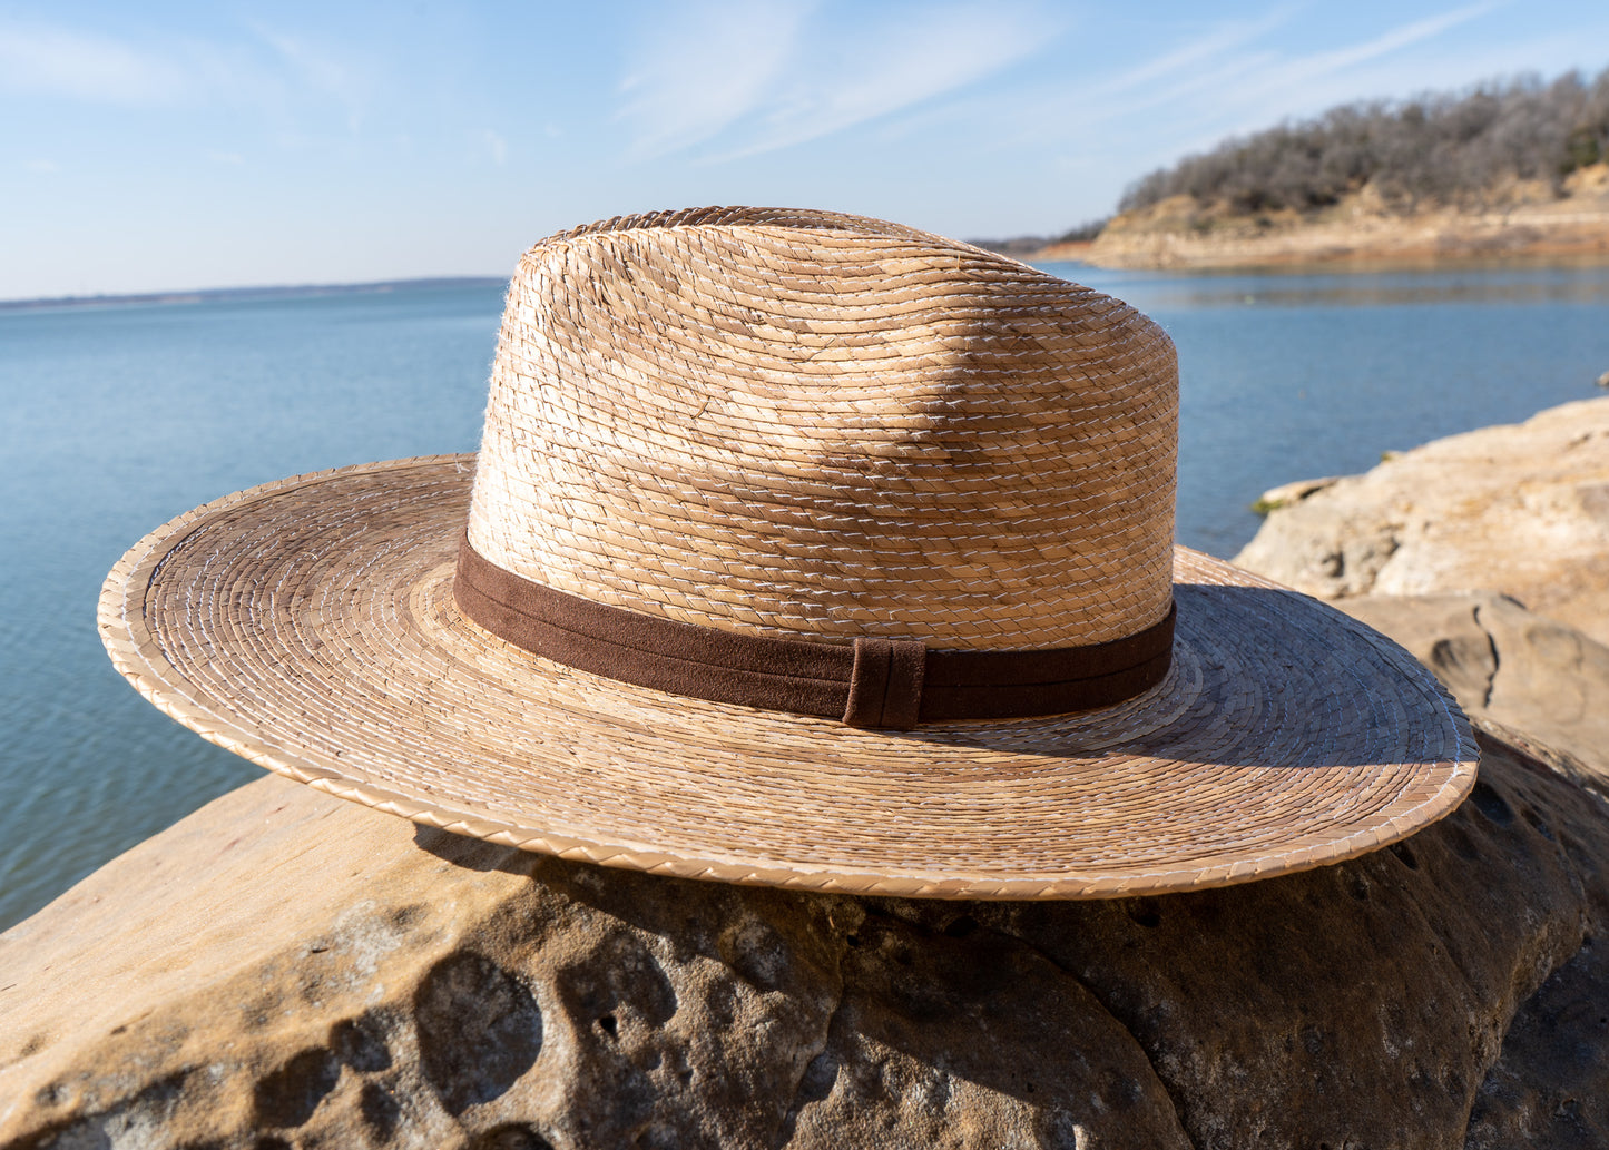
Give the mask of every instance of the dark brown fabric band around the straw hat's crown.
[[922, 722], [1027, 719], [1112, 706], [1173, 664], [1178, 606], [1133, 635], [1086, 647], [933, 650], [922, 640], [854, 645], [740, 635], [570, 595], [505, 571], [468, 540], [452, 582], [475, 624], [533, 655], [653, 690], [766, 711], [909, 730]]

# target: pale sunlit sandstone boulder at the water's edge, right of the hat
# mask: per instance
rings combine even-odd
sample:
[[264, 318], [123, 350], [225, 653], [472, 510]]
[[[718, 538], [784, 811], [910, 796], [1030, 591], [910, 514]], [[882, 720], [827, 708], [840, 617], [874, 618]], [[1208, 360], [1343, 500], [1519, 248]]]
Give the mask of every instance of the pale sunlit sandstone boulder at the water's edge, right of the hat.
[[1337, 479], [1234, 561], [1319, 598], [1498, 592], [1609, 643], [1609, 399]]

